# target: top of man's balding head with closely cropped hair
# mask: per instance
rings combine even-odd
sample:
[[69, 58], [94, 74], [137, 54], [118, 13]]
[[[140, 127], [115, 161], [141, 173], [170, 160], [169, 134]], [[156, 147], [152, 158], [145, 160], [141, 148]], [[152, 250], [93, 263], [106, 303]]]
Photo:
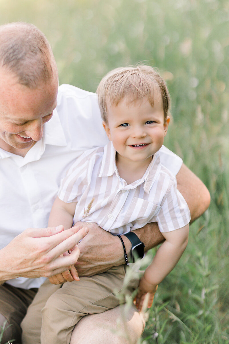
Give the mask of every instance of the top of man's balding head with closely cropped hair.
[[45, 35], [23, 22], [0, 26], [0, 68], [12, 72], [19, 84], [29, 88], [47, 83], [57, 73]]

